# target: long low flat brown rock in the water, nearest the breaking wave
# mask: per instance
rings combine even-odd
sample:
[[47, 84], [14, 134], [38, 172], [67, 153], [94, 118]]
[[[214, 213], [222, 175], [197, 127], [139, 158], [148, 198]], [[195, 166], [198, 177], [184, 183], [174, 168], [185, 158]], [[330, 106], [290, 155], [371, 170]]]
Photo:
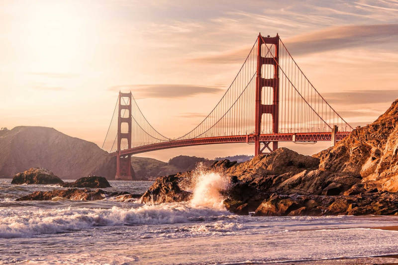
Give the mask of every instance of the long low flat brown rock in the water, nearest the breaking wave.
[[115, 197], [117, 201], [128, 201], [131, 198], [139, 198], [140, 195], [128, 192], [108, 192], [102, 189], [54, 189], [52, 191], [35, 191], [29, 195], [20, 197], [16, 200], [51, 200], [56, 197], [67, 198], [70, 200], [101, 200], [106, 197]]

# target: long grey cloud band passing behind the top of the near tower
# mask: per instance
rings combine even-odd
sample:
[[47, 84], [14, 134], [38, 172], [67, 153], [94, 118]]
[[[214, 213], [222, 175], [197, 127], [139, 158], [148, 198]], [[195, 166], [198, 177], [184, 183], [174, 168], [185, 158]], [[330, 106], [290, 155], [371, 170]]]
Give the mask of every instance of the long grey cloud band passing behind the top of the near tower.
[[[297, 56], [389, 41], [398, 41], [398, 24], [328, 27], [289, 38], [284, 43], [290, 53]], [[232, 51], [192, 58], [189, 61], [209, 64], [242, 63], [249, 51], [250, 46], [246, 46]]]

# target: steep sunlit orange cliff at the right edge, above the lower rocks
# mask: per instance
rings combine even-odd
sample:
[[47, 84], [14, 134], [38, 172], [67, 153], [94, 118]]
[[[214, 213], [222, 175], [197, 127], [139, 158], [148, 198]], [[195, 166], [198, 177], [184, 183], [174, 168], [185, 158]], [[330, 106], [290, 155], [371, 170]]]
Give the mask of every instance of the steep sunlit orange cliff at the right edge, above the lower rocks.
[[398, 191], [398, 99], [372, 124], [314, 155], [319, 169], [362, 178], [369, 187]]

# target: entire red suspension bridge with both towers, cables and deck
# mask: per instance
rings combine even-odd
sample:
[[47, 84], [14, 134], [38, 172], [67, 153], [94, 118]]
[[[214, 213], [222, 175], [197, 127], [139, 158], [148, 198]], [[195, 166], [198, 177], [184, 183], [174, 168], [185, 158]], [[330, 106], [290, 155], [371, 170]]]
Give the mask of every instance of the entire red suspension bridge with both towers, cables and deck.
[[133, 154], [254, 143], [258, 155], [276, 150], [278, 142], [335, 144], [352, 129], [312, 86], [278, 34], [259, 34], [224, 95], [191, 131], [174, 139], [164, 136], [148, 122], [131, 92], [119, 92], [101, 148], [116, 157], [115, 179], [131, 179]]

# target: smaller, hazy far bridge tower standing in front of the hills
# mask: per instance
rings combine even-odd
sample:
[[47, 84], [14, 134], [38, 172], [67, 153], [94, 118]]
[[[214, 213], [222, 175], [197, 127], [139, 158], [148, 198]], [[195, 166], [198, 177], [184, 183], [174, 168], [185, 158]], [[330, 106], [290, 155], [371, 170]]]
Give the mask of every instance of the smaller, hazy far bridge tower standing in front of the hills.
[[[123, 104], [125, 102], [125, 98], [128, 98], [127, 104]], [[116, 180], [132, 180], [131, 155], [120, 156], [122, 139], [127, 139], [128, 148], [131, 148], [131, 99], [131, 91], [129, 93], [122, 93], [119, 91], [119, 107], [117, 116]], [[123, 109], [124, 115], [122, 115]], [[126, 112], [128, 115], [126, 115]], [[122, 132], [123, 123], [127, 123], [127, 132]]]

